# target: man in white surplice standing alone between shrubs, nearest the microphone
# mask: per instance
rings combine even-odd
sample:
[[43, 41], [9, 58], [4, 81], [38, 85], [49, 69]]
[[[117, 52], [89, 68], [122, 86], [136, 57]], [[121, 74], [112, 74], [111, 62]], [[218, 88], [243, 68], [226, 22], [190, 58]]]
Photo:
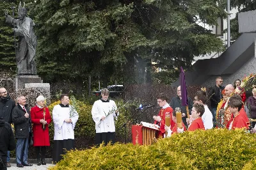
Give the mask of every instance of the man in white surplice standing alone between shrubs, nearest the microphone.
[[100, 100], [94, 102], [92, 107], [92, 118], [95, 122], [95, 144], [99, 146], [102, 142], [108, 144], [115, 143], [115, 118], [119, 115], [116, 104], [109, 100], [109, 91], [101, 90]]

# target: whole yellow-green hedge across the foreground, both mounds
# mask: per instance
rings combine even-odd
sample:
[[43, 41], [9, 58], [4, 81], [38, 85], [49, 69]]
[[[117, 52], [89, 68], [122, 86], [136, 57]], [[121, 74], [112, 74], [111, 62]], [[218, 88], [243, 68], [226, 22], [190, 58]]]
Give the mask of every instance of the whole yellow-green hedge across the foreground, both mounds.
[[114, 144], [69, 151], [50, 169], [255, 169], [255, 135], [243, 130], [196, 130], [151, 146]]

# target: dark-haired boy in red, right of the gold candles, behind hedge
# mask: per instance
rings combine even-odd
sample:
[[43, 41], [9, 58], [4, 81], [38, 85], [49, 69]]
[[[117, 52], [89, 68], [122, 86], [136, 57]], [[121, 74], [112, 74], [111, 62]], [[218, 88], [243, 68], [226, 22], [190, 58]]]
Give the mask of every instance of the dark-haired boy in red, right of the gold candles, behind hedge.
[[196, 129], [202, 129], [204, 128], [204, 122], [202, 121], [202, 116], [204, 114], [204, 105], [203, 104], [194, 104], [192, 111], [191, 111], [191, 117], [193, 118], [193, 121], [188, 127], [188, 131], [194, 131]]

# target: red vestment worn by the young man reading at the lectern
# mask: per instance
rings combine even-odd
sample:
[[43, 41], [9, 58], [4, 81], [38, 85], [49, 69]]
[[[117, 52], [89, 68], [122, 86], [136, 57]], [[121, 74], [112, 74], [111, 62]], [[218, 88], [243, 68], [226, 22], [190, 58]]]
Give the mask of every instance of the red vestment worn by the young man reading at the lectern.
[[172, 107], [166, 107], [166, 109], [161, 109], [158, 113], [157, 116], [160, 116], [161, 117], [161, 121], [155, 121], [154, 124], [156, 125], [159, 125], [160, 127], [160, 131], [159, 131], [159, 134], [158, 136], [162, 135], [162, 137], [164, 137], [164, 133], [165, 133], [165, 129], [164, 129], [164, 125], [165, 125], [165, 113], [166, 112], [170, 112], [170, 125], [171, 127], [173, 126], [173, 120], [172, 120], [172, 112], [173, 112], [173, 109]]

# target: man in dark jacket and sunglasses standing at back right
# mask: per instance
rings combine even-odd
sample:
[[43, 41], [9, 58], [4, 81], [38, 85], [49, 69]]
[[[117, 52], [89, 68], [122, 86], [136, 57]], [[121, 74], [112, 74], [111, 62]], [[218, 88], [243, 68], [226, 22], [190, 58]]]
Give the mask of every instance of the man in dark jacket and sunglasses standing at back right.
[[222, 97], [221, 91], [225, 89], [225, 87], [221, 86], [223, 83], [223, 79], [221, 77], [216, 78], [216, 85], [211, 87], [209, 92], [209, 97], [211, 100], [211, 108], [212, 108], [212, 118], [213, 122], [216, 123], [216, 110], [218, 107], [218, 104], [220, 103], [220, 100]]

